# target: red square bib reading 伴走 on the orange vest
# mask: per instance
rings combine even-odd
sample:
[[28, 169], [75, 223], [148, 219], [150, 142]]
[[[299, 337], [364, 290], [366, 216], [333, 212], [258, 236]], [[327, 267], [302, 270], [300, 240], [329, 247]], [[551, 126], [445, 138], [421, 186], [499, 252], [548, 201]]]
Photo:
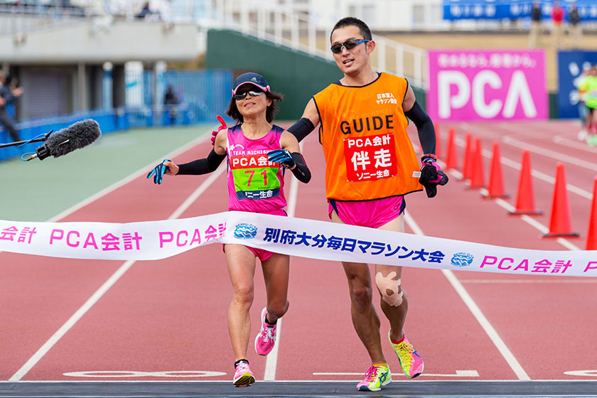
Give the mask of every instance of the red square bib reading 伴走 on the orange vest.
[[397, 174], [393, 133], [346, 138], [344, 156], [348, 181], [372, 181]]

